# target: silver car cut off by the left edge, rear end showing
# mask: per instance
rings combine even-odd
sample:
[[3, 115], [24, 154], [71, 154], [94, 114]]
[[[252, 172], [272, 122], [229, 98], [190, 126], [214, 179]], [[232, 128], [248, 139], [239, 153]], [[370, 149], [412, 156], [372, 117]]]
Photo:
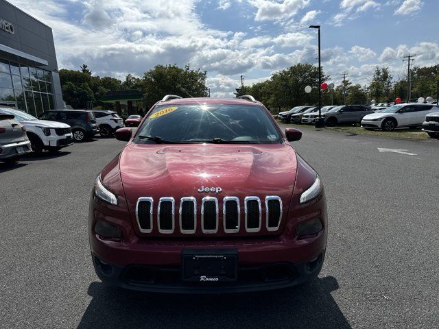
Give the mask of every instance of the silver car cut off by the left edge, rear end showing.
[[14, 119], [12, 114], [0, 113], [0, 160], [15, 162], [32, 152], [26, 127]]

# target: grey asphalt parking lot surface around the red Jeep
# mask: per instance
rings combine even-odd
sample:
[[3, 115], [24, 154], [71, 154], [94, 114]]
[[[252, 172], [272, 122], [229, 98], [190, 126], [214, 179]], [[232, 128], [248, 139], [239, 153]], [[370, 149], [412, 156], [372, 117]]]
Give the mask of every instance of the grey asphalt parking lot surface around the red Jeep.
[[294, 146], [324, 182], [329, 243], [320, 278], [285, 291], [104, 287], [87, 212], [96, 175], [124, 145], [114, 138], [0, 164], [0, 328], [437, 327], [439, 141], [303, 132]]

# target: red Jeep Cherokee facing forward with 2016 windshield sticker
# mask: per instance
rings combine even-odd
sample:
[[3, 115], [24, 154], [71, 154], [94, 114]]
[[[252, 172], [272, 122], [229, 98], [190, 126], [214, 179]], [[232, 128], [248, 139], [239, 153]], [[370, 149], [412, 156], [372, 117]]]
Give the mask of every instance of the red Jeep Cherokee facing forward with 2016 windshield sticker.
[[270, 112], [241, 99], [168, 95], [96, 178], [97, 276], [126, 289], [223, 293], [316, 278], [327, 245], [322, 183]]

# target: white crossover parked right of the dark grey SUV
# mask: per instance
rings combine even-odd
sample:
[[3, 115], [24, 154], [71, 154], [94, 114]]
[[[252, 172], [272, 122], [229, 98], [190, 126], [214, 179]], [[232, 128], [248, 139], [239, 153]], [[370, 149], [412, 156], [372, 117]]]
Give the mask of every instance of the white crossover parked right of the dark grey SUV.
[[399, 127], [420, 127], [427, 114], [438, 111], [439, 108], [431, 104], [398, 104], [364, 117], [361, 127], [367, 130], [382, 129], [386, 132]]

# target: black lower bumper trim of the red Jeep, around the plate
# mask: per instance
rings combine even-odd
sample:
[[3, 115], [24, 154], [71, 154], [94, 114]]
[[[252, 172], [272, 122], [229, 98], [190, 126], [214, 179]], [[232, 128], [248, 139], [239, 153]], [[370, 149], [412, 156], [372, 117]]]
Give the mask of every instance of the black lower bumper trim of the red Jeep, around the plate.
[[160, 293], [243, 293], [293, 287], [313, 280], [322, 269], [325, 250], [304, 263], [239, 263], [236, 282], [184, 282], [179, 266], [105, 263], [92, 254], [93, 266], [102, 282], [136, 291]]

